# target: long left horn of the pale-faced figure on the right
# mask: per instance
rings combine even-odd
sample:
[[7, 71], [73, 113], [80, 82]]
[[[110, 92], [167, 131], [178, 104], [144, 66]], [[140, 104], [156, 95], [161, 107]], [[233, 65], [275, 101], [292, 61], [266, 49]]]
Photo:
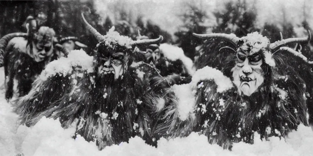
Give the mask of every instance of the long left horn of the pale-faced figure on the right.
[[219, 39], [224, 39], [231, 41], [233, 45], [237, 46], [237, 42], [239, 41], [239, 37], [237, 37], [234, 34], [224, 34], [224, 33], [212, 33], [212, 34], [196, 34], [192, 33], [193, 36], [198, 37], [198, 38], [219, 38]]

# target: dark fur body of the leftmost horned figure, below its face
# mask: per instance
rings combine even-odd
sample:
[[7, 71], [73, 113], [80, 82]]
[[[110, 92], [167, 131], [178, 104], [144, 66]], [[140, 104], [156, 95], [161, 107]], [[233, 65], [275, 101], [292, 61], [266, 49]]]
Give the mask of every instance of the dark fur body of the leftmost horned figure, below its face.
[[[52, 56], [51, 60], [57, 59], [57, 55]], [[44, 70], [48, 58], [41, 62], [36, 62], [26, 51], [8, 46], [4, 54], [4, 74], [5, 74], [5, 98], [11, 99], [13, 96], [13, 79], [17, 80], [18, 97], [28, 94], [31, 84]]]

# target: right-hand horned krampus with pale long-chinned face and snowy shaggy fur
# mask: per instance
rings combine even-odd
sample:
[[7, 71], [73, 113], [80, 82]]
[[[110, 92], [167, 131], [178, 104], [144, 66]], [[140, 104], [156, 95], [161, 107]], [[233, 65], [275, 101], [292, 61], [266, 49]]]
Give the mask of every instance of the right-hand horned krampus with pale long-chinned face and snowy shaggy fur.
[[[230, 149], [239, 141], [253, 144], [254, 132], [264, 139], [284, 137], [299, 124], [307, 125], [313, 62], [281, 46], [308, 42], [310, 36], [271, 44], [258, 32], [241, 38], [233, 34], [194, 36], [225, 40], [215, 43], [216, 47], [210, 45], [210, 50], [204, 45], [198, 60], [205, 61], [205, 57], [211, 62], [198, 65], [219, 70], [198, 66], [191, 83], [172, 87], [177, 102], [163, 108], [157, 128], [161, 136], [186, 136], [196, 131], [208, 136], [211, 144]], [[177, 92], [184, 88], [194, 96]], [[186, 98], [188, 103], [184, 103]]]

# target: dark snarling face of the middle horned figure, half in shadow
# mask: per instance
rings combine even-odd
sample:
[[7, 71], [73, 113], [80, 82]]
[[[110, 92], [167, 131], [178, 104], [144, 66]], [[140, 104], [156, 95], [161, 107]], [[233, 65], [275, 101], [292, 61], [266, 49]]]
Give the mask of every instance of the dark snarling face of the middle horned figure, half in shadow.
[[110, 52], [99, 52], [100, 67], [98, 72], [100, 74], [114, 74], [114, 80], [118, 79], [124, 74], [125, 66], [125, 54], [122, 52], [110, 53]]

